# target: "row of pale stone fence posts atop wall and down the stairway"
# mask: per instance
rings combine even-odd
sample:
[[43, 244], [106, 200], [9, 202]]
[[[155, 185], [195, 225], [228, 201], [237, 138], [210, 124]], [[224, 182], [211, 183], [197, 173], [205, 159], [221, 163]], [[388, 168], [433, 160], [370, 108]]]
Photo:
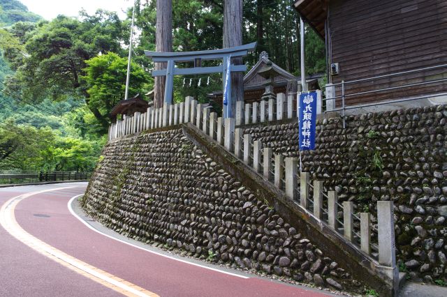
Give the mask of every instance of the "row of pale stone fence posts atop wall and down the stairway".
[[[377, 202], [377, 224], [372, 224], [370, 213], [356, 214], [359, 212], [355, 211], [352, 201], [340, 204], [337, 192], [326, 191], [323, 181], [311, 182], [309, 173], [300, 172], [297, 158], [274, 154], [272, 148], [264, 147], [259, 140], [253, 141], [250, 134], [236, 128], [242, 124], [291, 119], [296, 116], [293, 109], [296, 98], [290, 96], [286, 100], [284, 94], [278, 94], [277, 100], [244, 106], [242, 102], [237, 103], [235, 119], [218, 117], [217, 113], [204, 109], [192, 97], [186, 97], [185, 102], [175, 105], [165, 104], [159, 109], [149, 107], [144, 114], [135, 112], [133, 116], [112, 124], [109, 141], [145, 130], [192, 123], [266, 181], [283, 190], [309, 215], [328, 224], [356, 248], [377, 259], [380, 265], [395, 268], [393, 201]], [[321, 104], [317, 107], [321, 112]]]

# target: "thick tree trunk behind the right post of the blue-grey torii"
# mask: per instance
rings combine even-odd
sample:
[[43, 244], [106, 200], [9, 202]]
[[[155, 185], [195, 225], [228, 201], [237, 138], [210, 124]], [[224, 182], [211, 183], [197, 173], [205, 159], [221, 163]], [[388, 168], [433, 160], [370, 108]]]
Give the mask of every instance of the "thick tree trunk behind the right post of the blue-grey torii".
[[[223, 3], [223, 47], [242, 45], [242, 0], [225, 0]], [[242, 58], [231, 59], [235, 65], [242, 65]], [[243, 73], [231, 75], [231, 114], [235, 114], [236, 101], [244, 100]]]

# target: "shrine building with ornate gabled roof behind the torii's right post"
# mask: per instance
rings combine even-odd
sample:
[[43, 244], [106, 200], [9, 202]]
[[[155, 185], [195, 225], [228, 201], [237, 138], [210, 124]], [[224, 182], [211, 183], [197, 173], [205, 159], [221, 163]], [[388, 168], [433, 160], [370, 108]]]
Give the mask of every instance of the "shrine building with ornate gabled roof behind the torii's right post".
[[[254, 101], [261, 101], [261, 96], [265, 91], [266, 79], [258, 74], [258, 71], [271, 63], [272, 68], [277, 73], [274, 77], [274, 93], [296, 93], [301, 88], [301, 79], [295, 77], [291, 73], [288, 73], [283, 68], [277, 66], [277, 64], [270, 61], [268, 54], [262, 52], [259, 56], [259, 61], [249, 70], [244, 76], [244, 102], [251, 103]], [[309, 89], [319, 89], [318, 78], [322, 75], [314, 75], [309, 77], [306, 82], [309, 85]], [[214, 91], [208, 94], [208, 98], [221, 105], [222, 103], [222, 91]]]

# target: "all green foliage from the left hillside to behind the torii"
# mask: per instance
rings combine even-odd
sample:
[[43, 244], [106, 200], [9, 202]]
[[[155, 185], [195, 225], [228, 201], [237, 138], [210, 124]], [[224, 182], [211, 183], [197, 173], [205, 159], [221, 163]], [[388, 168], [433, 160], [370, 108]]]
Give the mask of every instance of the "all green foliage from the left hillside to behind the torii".
[[[298, 75], [299, 17], [293, 0], [245, 0], [243, 42], [258, 42], [249, 66], [267, 51]], [[156, 1], [137, 1], [138, 32], [129, 96], [152, 89], [154, 68], [144, 50], [155, 50]], [[85, 11], [41, 20], [17, 0], [0, 0], [0, 169], [91, 170], [98, 160], [112, 107], [124, 98], [128, 20]], [[173, 0], [175, 51], [222, 47], [223, 0]], [[306, 28], [308, 73], [325, 69], [324, 45]], [[7, 62], [7, 63], [6, 63]], [[203, 66], [217, 62], [203, 61]], [[191, 63], [178, 67], [191, 67]], [[201, 84], [198, 86], [198, 79]], [[194, 79], [189, 87], [189, 79]], [[222, 89], [221, 75], [176, 77], [175, 100]]]

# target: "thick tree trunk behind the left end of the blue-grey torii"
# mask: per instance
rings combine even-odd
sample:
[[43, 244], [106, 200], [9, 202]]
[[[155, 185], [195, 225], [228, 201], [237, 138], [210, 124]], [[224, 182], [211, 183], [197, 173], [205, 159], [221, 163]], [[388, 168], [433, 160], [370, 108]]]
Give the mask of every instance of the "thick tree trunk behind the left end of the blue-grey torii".
[[[173, 51], [173, 0], [156, 0], [156, 52]], [[155, 63], [155, 69], [166, 69], [166, 63]], [[163, 106], [166, 77], [155, 77], [154, 107]]]

